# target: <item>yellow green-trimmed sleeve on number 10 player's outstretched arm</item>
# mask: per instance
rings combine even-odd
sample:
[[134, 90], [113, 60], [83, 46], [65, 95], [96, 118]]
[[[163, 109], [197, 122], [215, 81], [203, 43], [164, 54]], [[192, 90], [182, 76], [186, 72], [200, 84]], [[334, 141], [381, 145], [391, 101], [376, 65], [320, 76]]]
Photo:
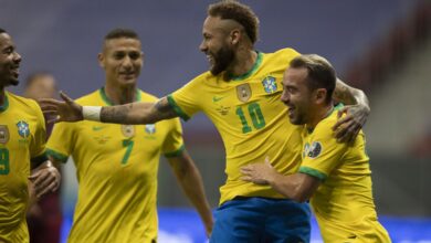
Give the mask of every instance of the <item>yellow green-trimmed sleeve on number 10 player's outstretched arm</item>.
[[200, 75], [196, 77], [167, 97], [177, 115], [183, 120], [188, 120], [191, 116], [201, 110], [200, 101], [202, 95], [204, 95], [202, 92], [203, 76], [204, 75]]

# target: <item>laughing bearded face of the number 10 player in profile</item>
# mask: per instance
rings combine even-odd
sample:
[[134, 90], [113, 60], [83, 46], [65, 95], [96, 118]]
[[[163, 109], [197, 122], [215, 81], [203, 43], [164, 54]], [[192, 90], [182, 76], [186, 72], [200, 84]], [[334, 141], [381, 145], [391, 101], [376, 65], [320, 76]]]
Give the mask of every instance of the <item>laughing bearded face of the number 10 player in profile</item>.
[[203, 40], [199, 49], [207, 55], [210, 71], [218, 75], [225, 71], [234, 59], [234, 51], [229, 44], [229, 33], [223, 30], [220, 18], [208, 17], [203, 22]]

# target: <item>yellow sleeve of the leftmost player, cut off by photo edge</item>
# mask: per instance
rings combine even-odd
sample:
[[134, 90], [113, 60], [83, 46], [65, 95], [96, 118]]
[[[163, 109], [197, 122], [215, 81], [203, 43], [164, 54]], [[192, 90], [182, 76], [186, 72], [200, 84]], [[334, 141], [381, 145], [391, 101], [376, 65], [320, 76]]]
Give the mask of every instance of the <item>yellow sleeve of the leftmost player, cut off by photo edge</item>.
[[[33, 102], [33, 101], [32, 101]], [[34, 110], [36, 116], [36, 124], [34, 126], [34, 137], [30, 146], [30, 160], [33, 165], [40, 165], [46, 161], [48, 157], [45, 154], [46, 144], [46, 128], [45, 119], [39, 105], [34, 103]]]

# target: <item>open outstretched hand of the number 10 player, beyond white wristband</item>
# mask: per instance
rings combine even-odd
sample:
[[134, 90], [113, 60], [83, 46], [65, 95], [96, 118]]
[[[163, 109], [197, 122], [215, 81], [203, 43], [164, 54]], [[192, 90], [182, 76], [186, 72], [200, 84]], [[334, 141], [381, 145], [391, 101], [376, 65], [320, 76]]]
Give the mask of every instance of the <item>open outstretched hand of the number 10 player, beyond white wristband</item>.
[[84, 119], [81, 105], [76, 104], [63, 92], [60, 92], [60, 97], [63, 102], [53, 98], [41, 98], [38, 101], [44, 114], [55, 117], [48, 120], [48, 123], [78, 122]]

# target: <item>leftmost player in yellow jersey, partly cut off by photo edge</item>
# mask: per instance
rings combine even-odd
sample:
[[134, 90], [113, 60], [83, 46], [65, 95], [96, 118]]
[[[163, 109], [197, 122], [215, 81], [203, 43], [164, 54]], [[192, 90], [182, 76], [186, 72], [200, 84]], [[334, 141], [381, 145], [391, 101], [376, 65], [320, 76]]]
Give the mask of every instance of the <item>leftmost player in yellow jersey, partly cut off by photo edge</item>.
[[42, 110], [34, 101], [4, 91], [19, 84], [20, 63], [11, 36], [0, 29], [0, 242], [8, 243], [29, 242], [29, 180], [38, 197], [60, 186], [60, 173], [45, 156]]

